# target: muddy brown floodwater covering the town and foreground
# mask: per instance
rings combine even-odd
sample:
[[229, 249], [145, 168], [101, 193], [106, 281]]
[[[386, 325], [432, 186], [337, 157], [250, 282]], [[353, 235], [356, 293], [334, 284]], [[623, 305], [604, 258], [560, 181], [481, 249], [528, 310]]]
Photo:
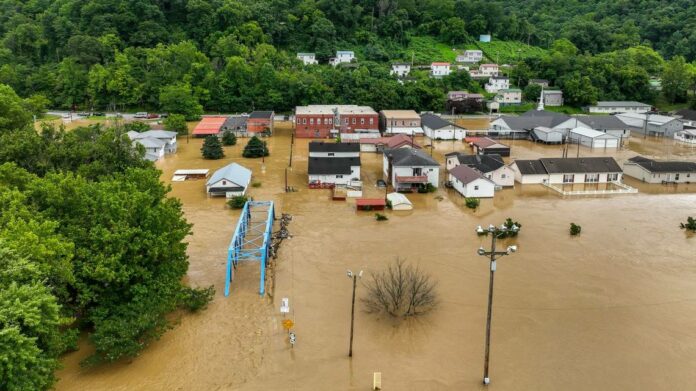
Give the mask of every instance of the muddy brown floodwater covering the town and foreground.
[[[356, 212], [354, 201], [332, 201], [308, 190], [307, 140], [296, 140], [289, 185], [290, 128], [276, 127], [271, 156], [243, 159], [246, 143], [226, 157], [200, 157], [201, 140], [180, 139], [179, 151], [158, 163], [162, 180], [183, 168], [239, 162], [253, 170], [257, 200], [273, 200], [293, 215], [283, 243], [273, 297], [258, 295], [258, 265], [243, 264], [223, 296], [226, 249], [238, 212], [206, 197], [203, 181], [171, 184], [194, 224], [187, 282], [215, 285], [198, 314], [175, 316], [175, 327], [128, 362], [81, 368], [89, 353], [65, 356], [58, 390], [370, 390], [373, 372], [384, 390], [479, 390], [483, 372], [488, 262], [476, 250], [490, 243], [479, 224], [512, 217], [522, 224], [501, 259], [495, 280], [490, 390], [687, 390], [696, 387], [696, 237], [679, 229], [696, 216], [696, 185], [643, 185], [640, 193], [561, 197], [541, 186], [516, 185], [482, 200], [477, 211], [444, 187], [408, 198], [413, 211]], [[429, 145], [428, 140], [417, 140]], [[512, 158], [562, 154], [559, 146], [510, 141]], [[443, 162], [461, 142], [435, 142], [426, 151]], [[571, 147], [568, 155], [578, 153]], [[633, 137], [615, 156], [642, 154], [696, 159], [696, 148], [671, 140]], [[366, 197], [381, 197], [381, 155], [363, 154]], [[444, 178], [444, 172], [441, 179]], [[570, 237], [570, 222], [582, 234]], [[507, 243], [504, 243], [507, 244]], [[440, 306], [425, 317], [394, 322], [367, 314], [358, 303], [354, 357], [349, 359], [351, 281], [395, 257], [437, 280]], [[365, 292], [358, 285], [358, 298]], [[290, 300], [297, 343], [291, 348], [279, 313]]]

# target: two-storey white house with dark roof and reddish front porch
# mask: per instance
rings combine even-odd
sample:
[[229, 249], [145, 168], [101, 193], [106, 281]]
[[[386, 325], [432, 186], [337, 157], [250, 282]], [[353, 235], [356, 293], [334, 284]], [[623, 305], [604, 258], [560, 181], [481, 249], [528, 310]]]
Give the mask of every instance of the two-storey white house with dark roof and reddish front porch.
[[384, 176], [396, 191], [413, 191], [428, 183], [437, 187], [440, 164], [420, 149], [385, 149]]

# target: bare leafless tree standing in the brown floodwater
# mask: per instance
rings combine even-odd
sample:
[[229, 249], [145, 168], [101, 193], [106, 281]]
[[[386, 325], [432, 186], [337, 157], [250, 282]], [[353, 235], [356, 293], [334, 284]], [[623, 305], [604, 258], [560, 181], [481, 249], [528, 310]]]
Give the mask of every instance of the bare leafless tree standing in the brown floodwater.
[[436, 283], [417, 266], [396, 260], [383, 271], [372, 273], [362, 299], [367, 312], [393, 317], [422, 315], [437, 306]]

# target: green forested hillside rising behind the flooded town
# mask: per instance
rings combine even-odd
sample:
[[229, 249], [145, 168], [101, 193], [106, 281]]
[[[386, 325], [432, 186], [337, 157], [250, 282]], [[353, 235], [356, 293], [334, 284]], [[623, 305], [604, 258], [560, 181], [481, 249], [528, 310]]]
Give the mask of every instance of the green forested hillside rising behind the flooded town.
[[[643, 45], [688, 63], [695, 27], [692, 0], [0, 0], [0, 83], [65, 108], [180, 110], [167, 102], [185, 97], [191, 116], [328, 101], [438, 110], [447, 88], [476, 86], [464, 76], [401, 85], [388, 62], [449, 59], [491, 33], [494, 45], [530, 45], [496, 50], [501, 62], [546, 57], [531, 47], [564, 38], [578, 56]], [[355, 49], [357, 69], [294, 60], [313, 51], [325, 63], [336, 49]], [[598, 98], [634, 98], [595, 87]]]

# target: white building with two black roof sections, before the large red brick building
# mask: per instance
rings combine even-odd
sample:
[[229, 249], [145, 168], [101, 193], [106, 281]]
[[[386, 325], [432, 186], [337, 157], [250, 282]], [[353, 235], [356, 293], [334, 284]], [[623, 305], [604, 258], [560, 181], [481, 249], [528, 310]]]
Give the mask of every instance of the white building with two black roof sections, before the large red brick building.
[[359, 181], [360, 144], [310, 142], [307, 173], [310, 187]]

